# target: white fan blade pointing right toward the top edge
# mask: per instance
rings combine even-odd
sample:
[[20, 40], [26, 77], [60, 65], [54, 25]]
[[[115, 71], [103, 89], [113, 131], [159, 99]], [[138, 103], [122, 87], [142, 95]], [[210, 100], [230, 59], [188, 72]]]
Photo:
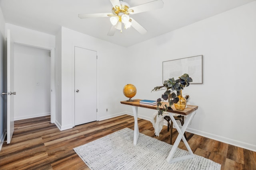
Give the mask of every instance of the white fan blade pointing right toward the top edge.
[[131, 7], [129, 8], [129, 10], [134, 11], [134, 12], [130, 12], [130, 14], [138, 14], [140, 12], [146, 12], [146, 11], [155, 10], [163, 7], [164, 7], [164, 2], [162, 0], [154, 0], [146, 4], [141, 4], [138, 6]]

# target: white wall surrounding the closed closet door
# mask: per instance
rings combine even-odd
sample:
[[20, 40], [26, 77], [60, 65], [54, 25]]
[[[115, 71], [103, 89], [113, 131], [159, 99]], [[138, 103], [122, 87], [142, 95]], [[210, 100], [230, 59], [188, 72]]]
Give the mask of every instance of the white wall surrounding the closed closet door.
[[[127, 84], [126, 77], [128, 76], [127, 70], [129, 67], [126, 64], [127, 59], [125, 53], [124, 55], [116, 54], [123, 54], [126, 48], [72, 31], [65, 27], [62, 27], [61, 32], [62, 119], [61, 123], [57, 123], [61, 126], [59, 128], [63, 130], [73, 126], [72, 112], [74, 110], [72, 98], [74, 94], [74, 77], [72, 72], [72, 57], [74, 45], [97, 51], [98, 119], [108, 119], [124, 114], [125, 107], [120, 105], [120, 101], [125, 100], [122, 94], [122, 88]], [[56, 49], [56, 51], [57, 50], [59, 49]], [[59, 73], [57, 74], [59, 75]], [[108, 109], [108, 112], [106, 112], [106, 109]]]

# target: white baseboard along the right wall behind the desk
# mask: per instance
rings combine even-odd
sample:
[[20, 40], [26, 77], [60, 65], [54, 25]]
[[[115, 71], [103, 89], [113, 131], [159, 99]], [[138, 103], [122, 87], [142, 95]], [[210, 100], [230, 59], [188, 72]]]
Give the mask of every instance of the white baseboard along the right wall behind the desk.
[[[133, 116], [133, 113], [131, 113], [131, 112], [126, 112], [126, 114]], [[148, 116], [138, 115], [138, 117], [141, 118], [141, 119], [144, 119], [144, 120], [148, 120], [148, 121], [151, 120], [151, 117], [148, 117]], [[164, 125], [167, 126], [166, 121], [164, 121]], [[189, 128], [189, 127], [186, 129], [186, 131], [190, 132], [190, 133], [194, 133], [196, 135], [200, 135], [200, 136], [203, 136], [203, 137], [214, 139], [216, 141], [220, 141], [220, 142], [223, 142], [223, 143], [234, 145], [236, 147], [240, 147], [240, 148], [244, 148], [244, 149], [248, 149], [248, 150], [252, 150], [252, 151], [256, 152], [256, 145], [252, 145], [250, 143], [237, 141], [237, 140], [234, 140], [234, 139], [230, 139], [230, 138], [227, 138], [227, 137], [222, 137], [222, 136], [219, 136], [219, 135], [214, 135], [212, 133], [207, 133], [207, 132], [204, 132], [204, 131], [198, 131], [196, 129], [192, 129], [192, 128]]]

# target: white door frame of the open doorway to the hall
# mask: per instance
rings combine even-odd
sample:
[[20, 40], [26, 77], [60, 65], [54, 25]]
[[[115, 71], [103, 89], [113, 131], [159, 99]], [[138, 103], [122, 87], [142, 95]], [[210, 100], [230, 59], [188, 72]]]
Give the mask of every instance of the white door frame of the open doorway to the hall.
[[[35, 48], [40, 48], [40, 49], [46, 49], [50, 51], [51, 55], [51, 123], [55, 123], [56, 120], [56, 86], [55, 86], [55, 74], [56, 74], [56, 68], [55, 68], [55, 48], [54, 47], [44, 47], [44, 46], [39, 46], [39, 45], [29, 45], [29, 44], [24, 44], [24, 43], [18, 43], [14, 42], [14, 44], [19, 44], [19, 45], [26, 45], [29, 47], [35, 47]], [[14, 49], [15, 50], [15, 49]]]

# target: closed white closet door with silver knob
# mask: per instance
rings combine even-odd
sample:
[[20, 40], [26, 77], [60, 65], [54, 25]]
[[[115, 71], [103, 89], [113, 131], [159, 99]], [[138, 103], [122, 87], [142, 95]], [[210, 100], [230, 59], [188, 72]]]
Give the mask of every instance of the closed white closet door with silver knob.
[[97, 119], [97, 52], [75, 47], [75, 125]]

